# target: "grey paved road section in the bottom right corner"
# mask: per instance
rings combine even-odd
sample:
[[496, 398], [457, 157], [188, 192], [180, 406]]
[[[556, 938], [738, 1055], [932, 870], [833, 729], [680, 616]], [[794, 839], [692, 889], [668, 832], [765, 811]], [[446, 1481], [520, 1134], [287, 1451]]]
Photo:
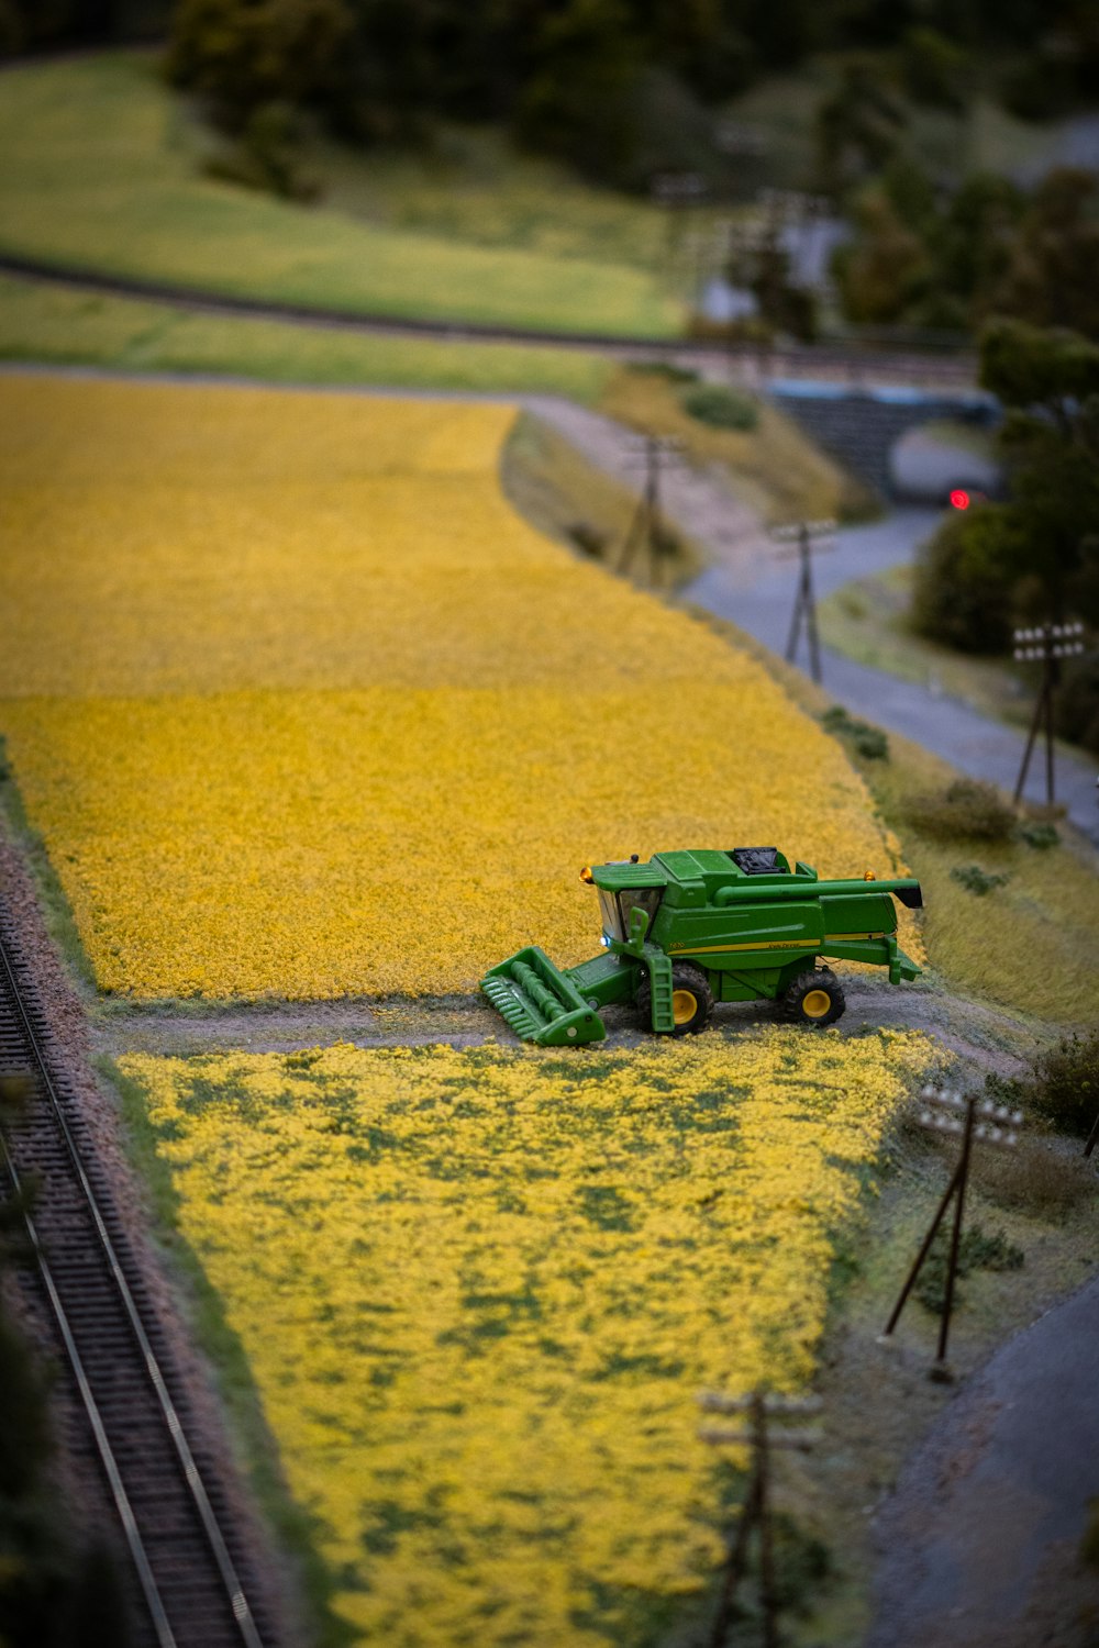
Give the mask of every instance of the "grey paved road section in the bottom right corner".
[[880, 1513], [867, 1648], [1096, 1648], [1099, 1279], [997, 1351]]

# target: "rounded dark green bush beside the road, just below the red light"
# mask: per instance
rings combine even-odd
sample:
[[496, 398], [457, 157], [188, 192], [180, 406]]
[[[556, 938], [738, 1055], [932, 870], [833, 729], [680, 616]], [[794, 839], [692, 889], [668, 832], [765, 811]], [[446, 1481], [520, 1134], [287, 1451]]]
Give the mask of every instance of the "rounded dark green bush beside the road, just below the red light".
[[1018, 560], [1002, 504], [979, 504], [952, 516], [916, 559], [913, 626], [962, 653], [1007, 651]]

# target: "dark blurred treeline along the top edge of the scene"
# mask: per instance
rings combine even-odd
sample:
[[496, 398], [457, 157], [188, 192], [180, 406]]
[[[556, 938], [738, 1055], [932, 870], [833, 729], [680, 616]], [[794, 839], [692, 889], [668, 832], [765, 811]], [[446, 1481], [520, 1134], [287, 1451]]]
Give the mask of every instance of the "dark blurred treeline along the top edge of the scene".
[[414, 138], [438, 115], [498, 120], [534, 150], [639, 186], [661, 166], [713, 170], [712, 105], [812, 51], [914, 35], [910, 58], [934, 79], [939, 59], [1030, 54], [1056, 33], [1058, 61], [1083, 74], [1094, 43], [1076, 10], [1071, 0], [180, 0], [170, 76], [227, 130], [270, 104], [311, 109], [353, 142]]

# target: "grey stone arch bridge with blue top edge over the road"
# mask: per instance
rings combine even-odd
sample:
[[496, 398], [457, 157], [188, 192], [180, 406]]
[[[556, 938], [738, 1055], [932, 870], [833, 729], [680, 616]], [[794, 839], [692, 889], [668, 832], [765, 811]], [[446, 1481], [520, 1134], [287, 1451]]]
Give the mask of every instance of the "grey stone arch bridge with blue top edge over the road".
[[807, 435], [882, 498], [893, 494], [890, 453], [921, 424], [942, 419], [992, 427], [998, 402], [982, 391], [947, 394], [911, 387], [852, 389], [806, 379], [773, 379], [766, 392]]

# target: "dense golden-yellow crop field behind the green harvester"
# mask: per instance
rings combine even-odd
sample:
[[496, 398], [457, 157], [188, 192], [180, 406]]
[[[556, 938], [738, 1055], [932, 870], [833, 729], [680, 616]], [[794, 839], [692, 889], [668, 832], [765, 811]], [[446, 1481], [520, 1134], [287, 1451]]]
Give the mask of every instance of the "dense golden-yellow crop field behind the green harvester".
[[514, 514], [512, 409], [13, 374], [0, 414], [0, 733], [102, 989], [575, 962], [629, 852], [896, 868], [760, 664]]

